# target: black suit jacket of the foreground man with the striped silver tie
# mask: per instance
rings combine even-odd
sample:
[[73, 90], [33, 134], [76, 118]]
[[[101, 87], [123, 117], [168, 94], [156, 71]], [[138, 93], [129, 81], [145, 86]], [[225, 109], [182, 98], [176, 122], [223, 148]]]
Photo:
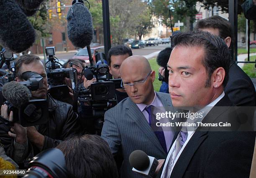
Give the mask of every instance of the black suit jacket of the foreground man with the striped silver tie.
[[[227, 95], [215, 106], [230, 107], [213, 107], [202, 123], [228, 121], [233, 107]], [[221, 132], [211, 129], [198, 131], [200, 127], [197, 128], [174, 165], [171, 178], [249, 177], [255, 133]], [[159, 177], [161, 171], [158, 174]]]

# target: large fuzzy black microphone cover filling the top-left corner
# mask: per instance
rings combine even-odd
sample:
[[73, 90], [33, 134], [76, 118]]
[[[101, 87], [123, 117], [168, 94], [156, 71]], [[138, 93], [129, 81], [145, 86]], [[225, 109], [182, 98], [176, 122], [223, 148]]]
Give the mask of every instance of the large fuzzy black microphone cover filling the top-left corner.
[[13, 53], [30, 48], [36, 32], [15, 0], [1, 0], [0, 11], [0, 45]]

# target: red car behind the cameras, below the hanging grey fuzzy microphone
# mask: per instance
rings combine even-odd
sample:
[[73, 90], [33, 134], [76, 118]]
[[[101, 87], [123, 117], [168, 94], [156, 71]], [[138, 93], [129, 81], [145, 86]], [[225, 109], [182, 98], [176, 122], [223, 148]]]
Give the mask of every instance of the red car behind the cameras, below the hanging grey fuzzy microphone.
[[[97, 53], [104, 53], [104, 46], [92, 47], [91, 48], [91, 53], [92, 53], [92, 58], [95, 61], [95, 55]], [[79, 49], [77, 51], [77, 53], [74, 54], [72, 59], [82, 59], [82, 60], [85, 61], [85, 63], [87, 65], [90, 64], [89, 55], [88, 55], [88, 51], [87, 51], [86, 47]]]

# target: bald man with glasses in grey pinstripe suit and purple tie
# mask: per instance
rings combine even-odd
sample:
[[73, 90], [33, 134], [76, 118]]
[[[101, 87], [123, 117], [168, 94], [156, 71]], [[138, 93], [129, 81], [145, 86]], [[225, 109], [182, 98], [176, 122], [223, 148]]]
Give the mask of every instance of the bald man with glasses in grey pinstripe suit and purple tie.
[[[120, 68], [122, 86], [128, 98], [105, 113], [102, 138], [108, 142], [113, 155], [123, 153], [122, 178], [141, 178], [129, 164], [134, 150], [143, 150], [156, 159], [166, 158], [174, 132], [172, 128], [155, 130], [155, 110], [176, 112], [169, 94], [154, 91], [155, 71], [142, 56], [130, 56]], [[161, 120], [160, 120], [161, 122]], [[163, 120], [164, 122], [164, 120]]]

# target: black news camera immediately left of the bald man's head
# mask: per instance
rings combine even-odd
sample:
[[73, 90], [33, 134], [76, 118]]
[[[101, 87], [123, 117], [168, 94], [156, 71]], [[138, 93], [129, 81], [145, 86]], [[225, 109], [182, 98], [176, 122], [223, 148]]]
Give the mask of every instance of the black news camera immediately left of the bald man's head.
[[110, 79], [104, 53], [97, 53], [95, 59], [96, 65], [85, 68], [83, 74], [87, 80], [96, 78], [96, 82], [88, 88], [78, 85], [75, 91], [80, 102], [86, 102], [92, 107], [95, 131], [98, 134], [102, 130], [105, 111], [117, 104], [115, 89], [121, 88], [121, 79]]

